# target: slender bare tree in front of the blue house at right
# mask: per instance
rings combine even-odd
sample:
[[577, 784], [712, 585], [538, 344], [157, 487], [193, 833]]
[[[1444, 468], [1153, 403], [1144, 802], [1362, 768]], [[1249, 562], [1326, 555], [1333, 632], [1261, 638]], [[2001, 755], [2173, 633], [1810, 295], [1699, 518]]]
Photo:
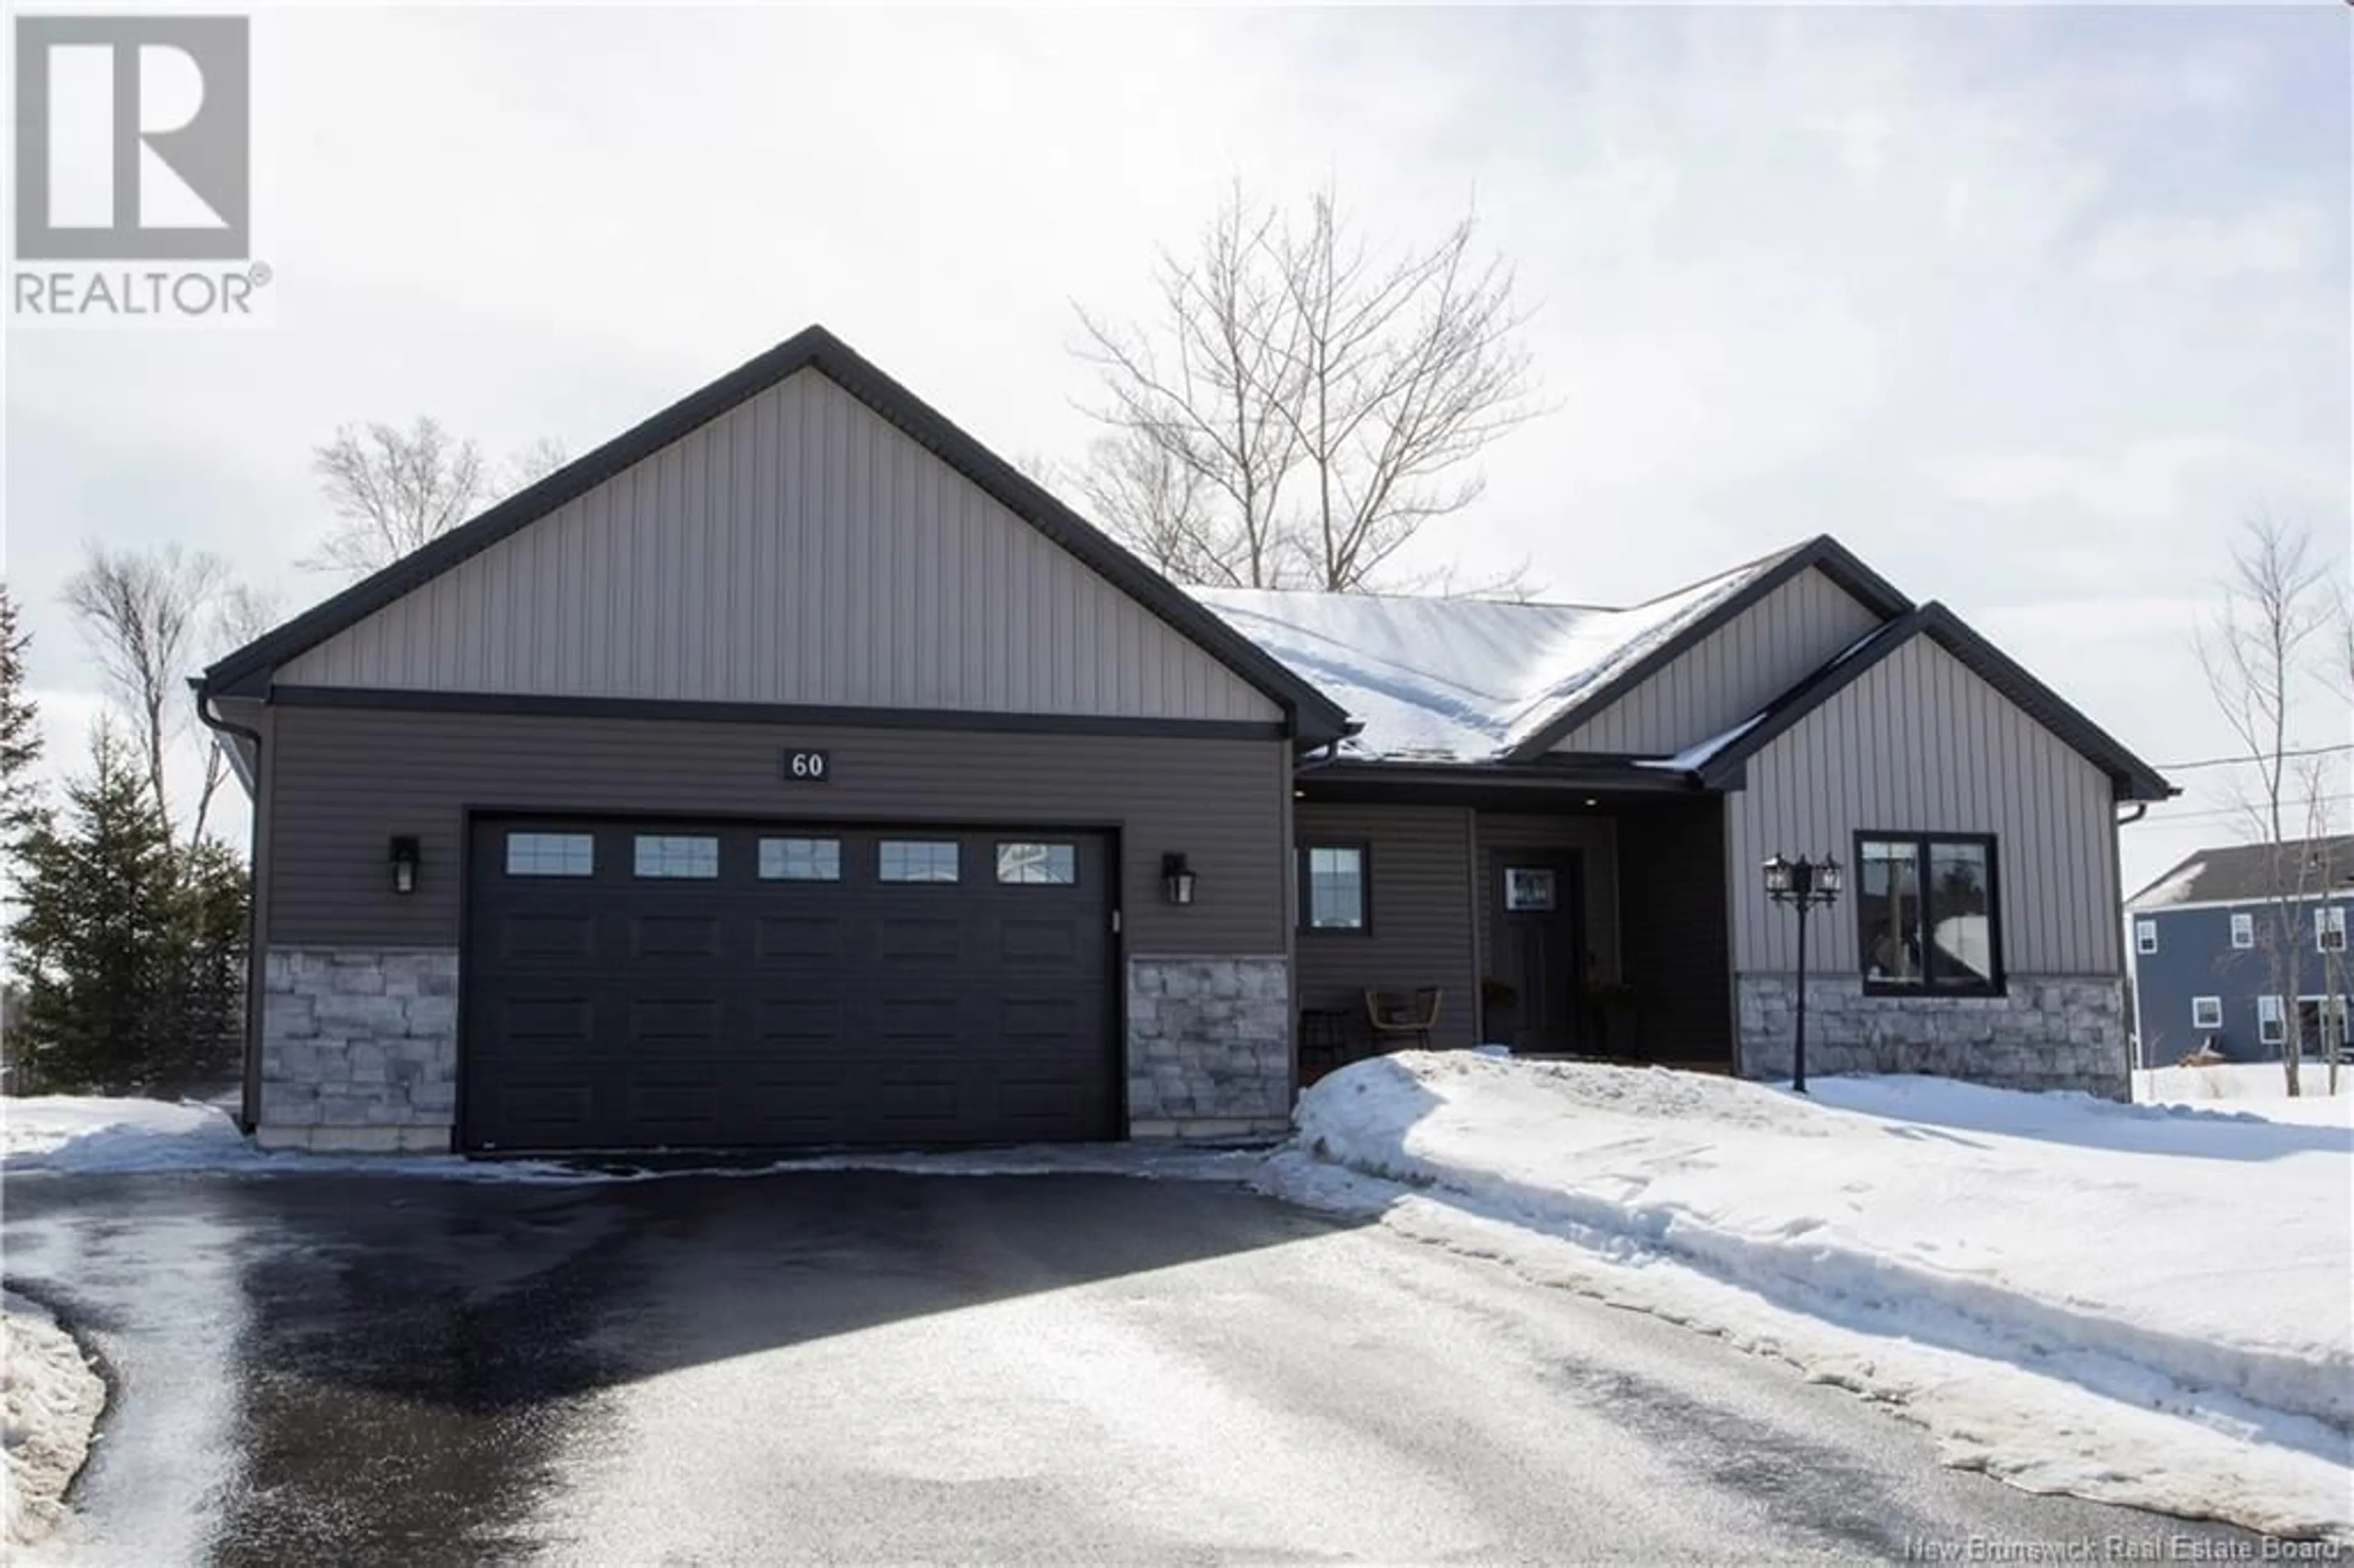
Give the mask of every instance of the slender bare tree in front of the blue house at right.
[[[2300, 1092], [2302, 1015], [2298, 994], [2305, 975], [2305, 911], [2326, 883], [2326, 869], [2307, 850], [2328, 829], [2328, 791], [2316, 775], [2298, 777], [2295, 723], [2312, 683], [2316, 643], [2326, 636], [2326, 570], [2312, 558], [2302, 527], [2274, 516], [2250, 518], [2232, 549], [2222, 607], [2199, 631], [2199, 664], [2206, 669], [2215, 706], [2255, 775], [2241, 786], [2239, 805], [2250, 833], [2269, 848], [2265, 857], [2265, 918], [2257, 949], [2265, 986], [2281, 1008], [2281, 1064], [2288, 1092]], [[2290, 822], [2302, 798], [2302, 822]]]

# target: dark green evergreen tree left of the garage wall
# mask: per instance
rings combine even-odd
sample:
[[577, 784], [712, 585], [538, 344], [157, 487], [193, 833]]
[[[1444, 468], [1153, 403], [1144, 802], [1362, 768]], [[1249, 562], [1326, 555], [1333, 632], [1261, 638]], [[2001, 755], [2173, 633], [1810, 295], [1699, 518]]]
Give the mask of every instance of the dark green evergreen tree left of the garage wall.
[[146, 775], [106, 723], [89, 772], [66, 784], [59, 822], [24, 845], [16, 968], [24, 1024], [12, 1041], [47, 1090], [148, 1088], [184, 1052], [179, 855]]

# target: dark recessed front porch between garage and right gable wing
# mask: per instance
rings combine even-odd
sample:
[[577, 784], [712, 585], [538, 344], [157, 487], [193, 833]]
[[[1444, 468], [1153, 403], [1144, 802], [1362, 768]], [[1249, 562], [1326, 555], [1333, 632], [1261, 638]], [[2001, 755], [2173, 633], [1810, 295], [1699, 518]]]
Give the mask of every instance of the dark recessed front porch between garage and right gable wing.
[[1394, 1050], [1377, 998], [1438, 989], [1434, 1048], [1733, 1071], [1723, 796], [1627, 763], [1304, 770], [1302, 1081]]

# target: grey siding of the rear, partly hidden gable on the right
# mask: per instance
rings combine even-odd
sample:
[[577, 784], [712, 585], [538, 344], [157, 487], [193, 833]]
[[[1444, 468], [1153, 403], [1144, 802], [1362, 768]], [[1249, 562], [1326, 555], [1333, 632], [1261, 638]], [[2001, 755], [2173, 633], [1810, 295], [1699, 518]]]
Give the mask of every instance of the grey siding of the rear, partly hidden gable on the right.
[[1822, 572], [1787, 584], [1577, 725], [1554, 751], [1667, 756], [1723, 735], [1881, 624]]

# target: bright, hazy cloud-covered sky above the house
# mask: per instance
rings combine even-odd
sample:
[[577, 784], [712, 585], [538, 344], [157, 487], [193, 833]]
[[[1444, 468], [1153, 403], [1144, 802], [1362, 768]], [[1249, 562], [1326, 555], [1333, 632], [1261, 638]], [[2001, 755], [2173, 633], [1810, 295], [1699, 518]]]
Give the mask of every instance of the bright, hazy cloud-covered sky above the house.
[[[1554, 412], [1448, 527], [1474, 572], [1645, 598], [1834, 532], [2163, 765], [2229, 749], [2189, 633], [2234, 525], [2345, 570], [2342, 5], [266, 12], [257, 71], [273, 325], [7, 341], [64, 751], [80, 539], [219, 551], [292, 610], [334, 586], [292, 560], [339, 421], [579, 452], [812, 320], [1069, 457], [1071, 301], [1139, 308], [1233, 174], [1332, 179], [1372, 238], [1476, 200], [1518, 264]], [[2180, 775], [2128, 885], [2234, 836], [2227, 779]]]

